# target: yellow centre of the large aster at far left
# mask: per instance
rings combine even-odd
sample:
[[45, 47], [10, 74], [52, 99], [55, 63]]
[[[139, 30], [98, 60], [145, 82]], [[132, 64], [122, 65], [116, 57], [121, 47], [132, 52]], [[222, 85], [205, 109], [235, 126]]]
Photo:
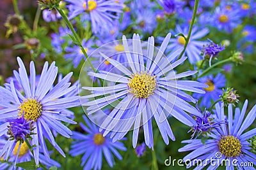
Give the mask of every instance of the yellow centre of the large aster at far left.
[[36, 99], [24, 99], [18, 107], [18, 115], [21, 117], [24, 114], [26, 120], [33, 120], [34, 122], [40, 117], [42, 113], [42, 104]]

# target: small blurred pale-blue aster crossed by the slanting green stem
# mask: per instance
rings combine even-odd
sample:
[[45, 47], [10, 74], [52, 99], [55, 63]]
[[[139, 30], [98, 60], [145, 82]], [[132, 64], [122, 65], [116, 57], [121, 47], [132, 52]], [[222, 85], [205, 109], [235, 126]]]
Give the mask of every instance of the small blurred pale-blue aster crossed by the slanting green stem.
[[[82, 45], [87, 55], [90, 55], [90, 53], [93, 50], [92, 46], [94, 45], [92, 39], [88, 39], [88, 41], [86, 41], [86, 39], [83, 39]], [[67, 52], [67, 54], [64, 55], [64, 58], [67, 60], [72, 60], [74, 67], [77, 67], [81, 60], [86, 60], [84, 53], [82, 52], [81, 48], [77, 45], [72, 47], [67, 46], [65, 48], [65, 52]]]

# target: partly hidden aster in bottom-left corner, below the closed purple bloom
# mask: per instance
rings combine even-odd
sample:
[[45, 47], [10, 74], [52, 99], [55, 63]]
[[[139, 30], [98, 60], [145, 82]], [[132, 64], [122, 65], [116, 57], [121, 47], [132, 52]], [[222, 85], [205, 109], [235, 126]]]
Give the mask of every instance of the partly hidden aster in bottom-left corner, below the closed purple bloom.
[[[0, 138], [1, 150], [3, 150], [4, 145], [6, 145], [7, 142], [8, 140], [6, 140], [6, 136], [2, 136]], [[19, 145], [20, 145], [20, 149], [19, 149]], [[33, 154], [30, 152], [28, 145], [26, 145], [25, 142], [21, 144], [20, 144], [20, 141], [13, 143], [12, 149], [13, 150], [10, 150], [11, 153], [10, 153], [8, 162], [12, 163], [16, 161], [17, 163], [21, 163], [21, 162], [28, 162], [33, 160]], [[39, 159], [40, 159], [40, 163], [43, 164], [48, 169], [52, 166], [61, 167], [61, 165], [55, 160], [53, 159], [47, 160], [46, 157], [42, 154], [42, 148], [40, 148]], [[1, 163], [0, 169], [23, 170], [23, 168], [21, 167], [15, 167], [15, 164], [10, 165], [8, 163]], [[42, 169], [42, 168], [38, 168], [38, 169]]]

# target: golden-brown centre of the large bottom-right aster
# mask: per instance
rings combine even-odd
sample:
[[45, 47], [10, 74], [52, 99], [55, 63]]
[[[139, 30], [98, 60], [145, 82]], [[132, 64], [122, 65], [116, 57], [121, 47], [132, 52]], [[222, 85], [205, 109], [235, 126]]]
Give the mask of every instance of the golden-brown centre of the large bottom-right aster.
[[218, 141], [220, 152], [226, 157], [237, 157], [241, 153], [241, 142], [234, 136], [223, 136]]

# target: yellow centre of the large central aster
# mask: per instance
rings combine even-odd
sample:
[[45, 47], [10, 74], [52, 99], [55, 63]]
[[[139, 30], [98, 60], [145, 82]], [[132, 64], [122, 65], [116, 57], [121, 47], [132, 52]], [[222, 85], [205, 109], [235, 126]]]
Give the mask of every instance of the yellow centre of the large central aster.
[[132, 78], [129, 80], [128, 86], [134, 97], [142, 97], [147, 99], [148, 96], [154, 94], [156, 89], [156, 76], [151, 76], [147, 73], [132, 74]]

